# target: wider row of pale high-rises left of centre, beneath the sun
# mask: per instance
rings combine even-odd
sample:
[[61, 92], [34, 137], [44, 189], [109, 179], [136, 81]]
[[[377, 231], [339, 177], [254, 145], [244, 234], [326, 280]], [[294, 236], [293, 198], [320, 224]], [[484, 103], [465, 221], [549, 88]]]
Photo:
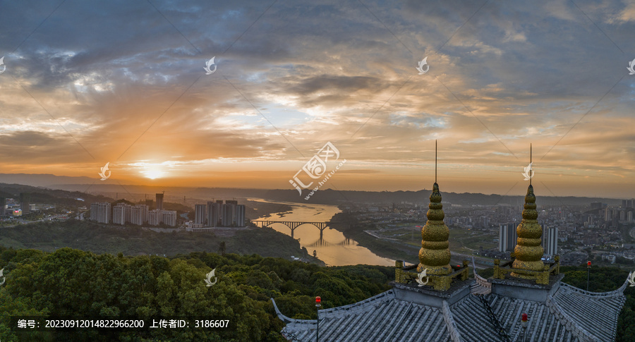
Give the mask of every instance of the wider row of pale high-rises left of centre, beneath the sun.
[[150, 226], [176, 226], [176, 211], [163, 209], [163, 195], [157, 193], [157, 208], [150, 210], [152, 200], [146, 204], [126, 204], [118, 203], [111, 207], [109, 202], [90, 204], [90, 220], [101, 224], [123, 224], [131, 223], [143, 225], [145, 222]]

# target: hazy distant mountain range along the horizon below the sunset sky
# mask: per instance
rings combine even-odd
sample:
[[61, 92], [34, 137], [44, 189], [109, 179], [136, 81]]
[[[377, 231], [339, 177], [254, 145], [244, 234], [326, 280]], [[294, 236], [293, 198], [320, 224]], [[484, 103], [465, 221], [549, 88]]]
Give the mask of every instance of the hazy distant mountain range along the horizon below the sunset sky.
[[[309, 200], [304, 198], [308, 191], [298, 195], [296, 190], [265, 190], [265, 189], [238, 189], [238, 188], [187, 188], [187, 187], [157, 187], [146, 185], [119, 185], [96, 182], [95, 178], [55, 176], [52, 174], [25, 174], [25, 173], [0, 173], [0, 183], [30, 185], [37, 188], [60, 189], [73, 192], [74, 195], [88, 193], [92, 195], [104, 195], [112, 198], [126, 198], [133, 202], [142, 200], [146, 196], [154, 199], [155, 193], [165, 192], [165, 198], [170, 202], [181, 202], [183, 197], [189, 197], [200, 201], [229, 200], [234, 197], [258, 197], [267, 200], [281, 202], [317, 203], [317, 204], [343, 204], [346, 202], [399, 204], [410, 202], [427, 205], [431, 190], [419, 191], [353, 191], [353, 190], [319, 190]], [[15, 188], [15, 186], [13, 188]], [[2, 187], [5, 188], [5, 187]], [[16, 188], [17, 190], [17, 188]], [[24, 191], [28, 191], [25, 190]], [[13, 194], [15, 195], [15, 194]], [[484, 195], [481, 193], [444, 193], [445, 204], [495, 205], [509, 204], [522, 205], [523, 196]], [[581, 205], [591, 202], [603, 202], [610, 205], [619, 205], [621, 200], [600, 197], [553, 197], [537, 194], [538, 205]]]

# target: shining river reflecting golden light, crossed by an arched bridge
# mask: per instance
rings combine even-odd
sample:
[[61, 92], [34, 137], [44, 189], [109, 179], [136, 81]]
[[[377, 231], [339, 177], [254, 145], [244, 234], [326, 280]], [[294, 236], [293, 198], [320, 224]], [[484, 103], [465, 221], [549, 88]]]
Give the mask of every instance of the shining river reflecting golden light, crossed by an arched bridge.
[[[255, 221], [301, 221], [301, 222], [328, 222], [335, 214], [341, 212], [334, 205], [327, 204], [303, 204], [296, 202], [274, 202], [261, 198], [248, 198], [254, 202], [267, 202], [287, 204], [293, 207], [290, 212], [277, 212], [267, 216], [258, 217]], [[270, 226], [280, 233], [291, 236], [291, 228], [284, 224], [272, 224]], [[368, 248], [358, 245], [357, 241], [347, 239], [339, 231], [327, 227], [322, 232], [313, 224], [298, 226], [293, 233], [294, 238], [300, 241], [300, 245], [309, 254], [313, 250], [317, 252], [317, 258], [328, 266], [344, 266], [355, 264], [373, 264], [382, 266], [394, 266], [394, 260], [375, 255]]]

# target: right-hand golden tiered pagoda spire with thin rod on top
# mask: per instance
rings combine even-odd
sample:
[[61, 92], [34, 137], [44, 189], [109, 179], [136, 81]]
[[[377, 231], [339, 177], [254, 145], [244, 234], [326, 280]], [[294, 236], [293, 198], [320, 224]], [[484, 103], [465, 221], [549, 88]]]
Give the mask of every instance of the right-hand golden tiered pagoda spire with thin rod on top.
[[[531, 147], [529, 162], [531, 169]], [[521, 224], [516, 228], [518, 239], [516, 240], [516, 248], [514, 248], [516, 259], [514, 260], [514, 264], [512, 264], [512, 269], [543, 270], [544, 264], [541, 259], [544, 250], [543, 246], [540, 245], [542, 242], [540, 238], [543, 236], [543, 228], [540, 227], [537, 219], [536, 195], [533, 195], [533, 186], [531, 185], [531, 178], [529, 178], [529, 187], [527, 188], [527, 195], [525, 195], [523, 221], [521, 221]], [[512, 272], [512, 276], [523, 279], [534, 278], [533, 276], [516, 274], [515, 272]]]

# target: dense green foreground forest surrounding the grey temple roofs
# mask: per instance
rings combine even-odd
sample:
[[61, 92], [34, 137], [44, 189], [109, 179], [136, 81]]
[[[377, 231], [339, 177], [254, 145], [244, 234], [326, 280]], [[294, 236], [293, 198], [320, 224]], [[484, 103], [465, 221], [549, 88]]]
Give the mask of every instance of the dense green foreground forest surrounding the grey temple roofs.
[[[315, 319], [314, 298], [322, 308], [356, 303], [390, 288], [392, 267], [320, 267], [258, 255], [224, 256], [196, 252], [175, 257], [83, 252], [61, 248], [0, 248], [6, 283], [0, 286], [0, 341], [284, 341], [283, 323], [273, 309], [289, 317]], [[205, 286], [215, 269], [217, 282]], [[586, 288], [586, 267], [563, 267], [564, 281]], [[612, 291], [627, 271], [604, 267], [591, 272], [591, 291]], [[619, 317], [617, 341], [635, 341], [635, 288]], [[75, 329], [18, 333], [16, 315], [229, 319], [231, 329]]]

